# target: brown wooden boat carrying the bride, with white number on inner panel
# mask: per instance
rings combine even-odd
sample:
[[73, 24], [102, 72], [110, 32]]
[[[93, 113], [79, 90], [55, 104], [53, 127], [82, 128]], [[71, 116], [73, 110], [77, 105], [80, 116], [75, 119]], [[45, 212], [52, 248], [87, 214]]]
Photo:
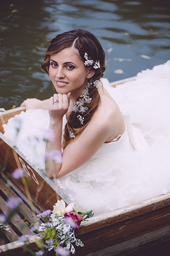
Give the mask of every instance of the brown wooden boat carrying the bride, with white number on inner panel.
[[[114, 82], [112, 86], [132, 79], [135, 79], [135, 77]], [[25, 111], [25, 109], [7, 110], [0, 116], [0, 164], [2, 169], [1, 184], [3, 184], [1, 185], [1, 201], [3, 201], [4, 183], [8, 180], [8, 184], [10, 184], [13, 191], [10, 193], [19, 194], [27, 207], [32, 201], [35, 212], [52, 209], [58, 199], [63, 199], [69, 204], [68, 196], [42, 170], [31, 166], [31, 163], [25, 159], [23, 154], [17, 148], [13, 148], [12, 143], [4, 137], [2, 125], [21, 111]], [[26, 172], [29, 180], [27, 181], [28, 191], [22, 183], [11, 177], [11, 173], [18, 166]], [[24, 206], [25, 210], [26, 206]], [[4, 210], [3, 206], [1, 210]], [[29, 220], [31, 221], [30, 214]], [[89, 221], [80, 225], [76, 236], [85, 244], [84, 247], [76, 247], [75, 255], [79, 256], [137, 255], [135, 252], [138, 252], [138, 255], [144, 255], [142, 252], [145, 247], [147, 247], [147, 252], [153, 248], [156, 252], [156, 248], [161, 247], [162, 255], [169, 255], [166, 254], [165, 249], [170, 250], [170, 193], [156, 196], [134, 206], [91, 217]], [[27, 255], [27, 252], [22, 248], [23, 243], [15, 238], [16, 236], [14, 236], [14, 239], [7, 237], [8, 243], [0, 244], [0, 255], [12, 255], [13, 253], [14, 255], [15, 253], [17, 255]], [[30, 238], [28, 248], [36, 247], [33, 238], [34, 234]], [[28, 253], [28, 255], [30, 254]]]

